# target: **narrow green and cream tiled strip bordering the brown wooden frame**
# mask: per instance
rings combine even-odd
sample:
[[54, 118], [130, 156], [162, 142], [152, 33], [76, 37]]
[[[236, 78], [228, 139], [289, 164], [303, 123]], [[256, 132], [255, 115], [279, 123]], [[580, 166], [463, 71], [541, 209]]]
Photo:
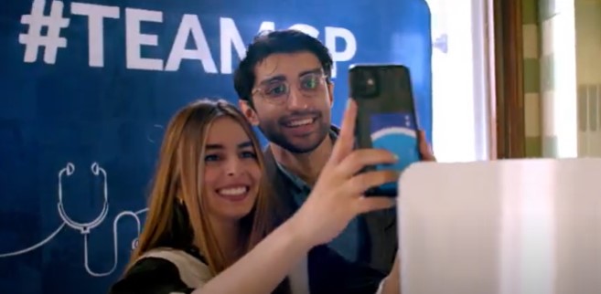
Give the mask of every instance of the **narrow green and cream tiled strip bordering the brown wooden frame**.
[[524, 58], [524, 115], [526, 134], [526, 156], [541, 157], [541, 58], [539, 49], [538, 0], [522, 0], [522, 37]]

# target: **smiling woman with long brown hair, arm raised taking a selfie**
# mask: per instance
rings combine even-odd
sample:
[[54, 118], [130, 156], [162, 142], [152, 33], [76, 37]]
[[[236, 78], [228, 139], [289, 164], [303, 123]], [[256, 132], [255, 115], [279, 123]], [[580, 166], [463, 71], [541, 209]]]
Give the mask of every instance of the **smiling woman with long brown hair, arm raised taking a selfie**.
[[[296, 294], [295, 278], [286, 276], [313, 247], [338, 236], [356, 215], [393, 204], [361, 197], [397, 175], [355, 176], [366, 165], [395, 161], [389, 152], [352, 150], [356, 111], [349, 104], [305, 205], [277, 228], [260, 144], [241, 112], [209, 100], [178, 111], [166, 129], [138, 247], [111, 293]], [[398, 293], [398, 261], [395, 268], [384, 292]]]

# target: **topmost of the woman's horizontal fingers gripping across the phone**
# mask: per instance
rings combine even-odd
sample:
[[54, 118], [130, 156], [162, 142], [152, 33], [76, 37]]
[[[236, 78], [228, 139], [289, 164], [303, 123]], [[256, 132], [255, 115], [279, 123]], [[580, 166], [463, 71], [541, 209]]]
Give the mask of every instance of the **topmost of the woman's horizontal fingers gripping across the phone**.
[[366, 166], [376, 164], [396, 163], [398, 159], [394, 153], [383, 149], [359, 149], [351, 151], [336, 167], [343, 178], [348, 178], [359, 173]]

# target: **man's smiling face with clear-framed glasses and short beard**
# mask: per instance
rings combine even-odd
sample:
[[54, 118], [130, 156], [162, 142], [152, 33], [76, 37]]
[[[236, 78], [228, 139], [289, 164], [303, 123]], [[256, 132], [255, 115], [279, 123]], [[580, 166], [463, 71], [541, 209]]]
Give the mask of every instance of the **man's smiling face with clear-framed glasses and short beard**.
[[254, 109], [241, 109], [263, 135], [289, 152], [312, 152], [330, 128], [333, 85], [309, 52], [273, 54], [254, 68]]

